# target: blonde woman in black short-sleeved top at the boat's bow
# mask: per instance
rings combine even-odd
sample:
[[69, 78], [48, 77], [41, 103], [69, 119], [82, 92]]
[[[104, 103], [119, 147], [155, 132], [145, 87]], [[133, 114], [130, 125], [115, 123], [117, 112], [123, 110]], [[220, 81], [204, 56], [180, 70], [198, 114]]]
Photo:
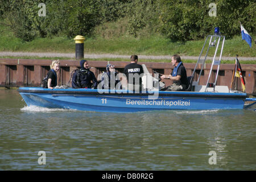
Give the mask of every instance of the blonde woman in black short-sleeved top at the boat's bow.
[[60, 69], [60, 62], [59, 60], [53, 60], [52, 64], [50, 65], [51, 70], [47, 74], [47, 88], [53, 89], [53, 86], [57, 86], [57, 72]]

